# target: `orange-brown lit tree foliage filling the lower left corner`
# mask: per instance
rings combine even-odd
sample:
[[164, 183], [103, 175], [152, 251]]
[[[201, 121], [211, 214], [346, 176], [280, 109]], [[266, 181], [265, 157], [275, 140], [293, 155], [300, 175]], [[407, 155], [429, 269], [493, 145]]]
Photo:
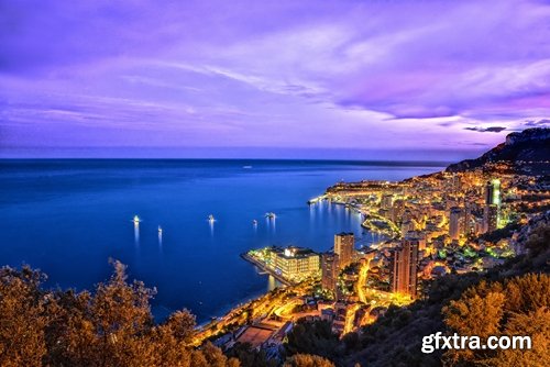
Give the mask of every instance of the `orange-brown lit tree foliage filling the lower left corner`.
[[45, 277], [24, 267], [0, 269], [1, 366], [240, 366], [207, 343], [188, 342], [195, 316], [187, 310], [154, 324], [154, 290], [127, 282], [125, 266], [95, 293], [46, 291]]

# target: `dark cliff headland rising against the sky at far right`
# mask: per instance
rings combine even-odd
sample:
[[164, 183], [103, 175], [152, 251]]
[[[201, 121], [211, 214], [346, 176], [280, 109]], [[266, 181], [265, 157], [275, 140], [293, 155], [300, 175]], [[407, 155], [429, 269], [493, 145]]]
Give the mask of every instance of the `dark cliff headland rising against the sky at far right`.
[[[498, 144], [493, 149], [475, 159], [466, 159], [447, 167], [447, 171], [457, 173], [482, 167], [487, 163], [510, 162], [519, 168], [524, 166], [537, 165], [540, 168], [542, 163], [550, 160], [550, 129], [538, 127], [527, 129], [522, 132], [512, 133], [506, 136], [506, 142]], [[521, 166], [521, 167], [520, 167]]]

